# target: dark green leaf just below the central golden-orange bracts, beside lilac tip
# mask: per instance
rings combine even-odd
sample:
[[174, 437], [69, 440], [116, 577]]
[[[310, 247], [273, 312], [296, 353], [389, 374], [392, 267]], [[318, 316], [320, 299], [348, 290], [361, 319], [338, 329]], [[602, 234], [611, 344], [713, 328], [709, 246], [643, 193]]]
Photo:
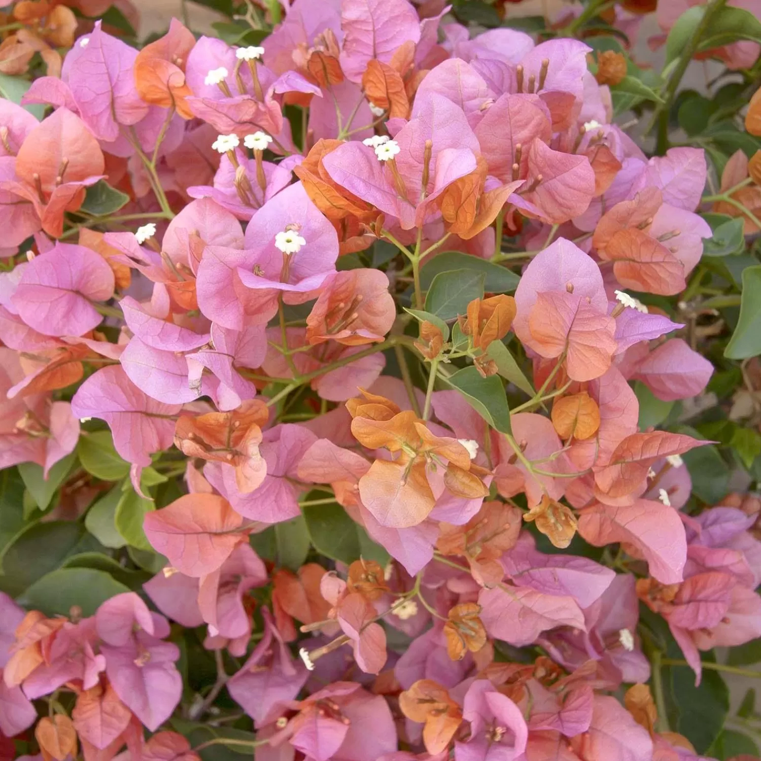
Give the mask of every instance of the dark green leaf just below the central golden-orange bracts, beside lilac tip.
[[352, 521], [337, 502], [304, 505], [301, 511], [312, 544], [320, 555], [344, 563], [352, 563], [360, 556], [377, 559], [385, 555], [385, 551], [377, 547], [365, 529]]

